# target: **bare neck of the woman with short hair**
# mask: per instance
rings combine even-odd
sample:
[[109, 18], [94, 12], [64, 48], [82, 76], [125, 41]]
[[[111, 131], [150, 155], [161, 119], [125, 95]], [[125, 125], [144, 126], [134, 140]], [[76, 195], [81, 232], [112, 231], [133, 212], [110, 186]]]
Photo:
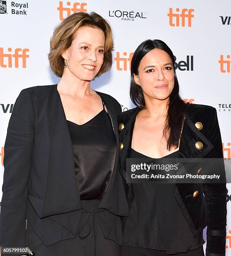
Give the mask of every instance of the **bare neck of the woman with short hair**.
[[68, 68], [64, 68], [63, 76], [58, 83], [57, 90], [59, 93], [71, 95], [74, 97], [84, 97], [94, 93], [90, 87], [91, 81], [80, 80], [72, 74]]

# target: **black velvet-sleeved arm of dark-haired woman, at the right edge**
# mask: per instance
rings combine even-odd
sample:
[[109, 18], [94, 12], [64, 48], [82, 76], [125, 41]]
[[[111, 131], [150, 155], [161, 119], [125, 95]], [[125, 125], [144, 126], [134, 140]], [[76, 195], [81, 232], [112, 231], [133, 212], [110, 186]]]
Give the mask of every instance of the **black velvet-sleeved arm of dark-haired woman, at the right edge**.
[[[214, 148], [207, 158], [223, 158], [221, 133], [215, 108], [212, 108], [211, 118], [213, 123], [208, 127], [208, 138], [214, 144]], [[220, 173], [225, 175], [223, 164], [219, 165], [219, 169]], [[207, 218], [206, 256], [223, 256], [226, 251], [226, 184], [204, 184], [204, 195]]]

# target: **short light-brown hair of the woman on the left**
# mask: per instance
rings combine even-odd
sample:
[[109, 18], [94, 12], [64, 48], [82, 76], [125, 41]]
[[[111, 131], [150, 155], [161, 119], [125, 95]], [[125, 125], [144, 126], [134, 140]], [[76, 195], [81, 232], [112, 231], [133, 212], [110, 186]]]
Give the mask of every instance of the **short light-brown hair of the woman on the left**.
[[55, 28], [53, 36], [50, 39], [50, 53], [48, 54], [48, 59], [50, 61], [51, 70], [57, 77], [62, 77], [63, 75], [64, 59], [61, 54], [71, 46], [74, 39], [74, 33], [81, 26], [99, 28], [104, 32], [104, 62], [96, 77], [109, 71], [112, 67], [112, 28], [107, 20], [94, 12], [73, 13]]

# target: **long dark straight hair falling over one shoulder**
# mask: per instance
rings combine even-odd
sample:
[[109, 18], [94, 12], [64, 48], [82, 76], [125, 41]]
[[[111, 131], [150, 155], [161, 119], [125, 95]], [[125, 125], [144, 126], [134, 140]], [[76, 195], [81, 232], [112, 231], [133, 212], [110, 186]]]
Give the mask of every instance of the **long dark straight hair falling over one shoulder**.
[[167, 141], [167, 148], [170, 150], [172, 147], [178, 148], [180, 134], [183, 126], [184, 116], [185, 116], [185, 108], [186, 104], [181, 99], [179, 95], [179, 83], [176, 77], [175, 72], [175, 59], [173, 52], [168, 47], [165, 42], [161, 40], [146, 40], [142, 42], [132, 57], [131, 63], [131, 84], [130, 84], [130, 97], [133, 102], [138, 108], [145, 109], [145, 99], [143, 95], [142, 88], [137, 86], [134, 80], [134, 74], [138, 75], [138, 68], [140, 66], [140, 61], [142, 58], [153, 49], [160, 49], [170, 56], [172, 63], [173, 63], [173, 70], [174, 70], [174, 88], [170, 94], [169, 101], [168, 101], [168, 113], [165, 120], [165, 127], [163, 131], [163, 135]]

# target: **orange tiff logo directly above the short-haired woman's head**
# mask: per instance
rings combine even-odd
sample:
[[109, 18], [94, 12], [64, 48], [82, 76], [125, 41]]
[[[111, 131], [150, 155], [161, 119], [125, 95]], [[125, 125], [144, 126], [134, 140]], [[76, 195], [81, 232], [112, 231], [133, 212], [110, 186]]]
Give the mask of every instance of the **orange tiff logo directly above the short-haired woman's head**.
[[[66, 5], [70, 6], [71, 2], [67, 2]], [[71, 7], [63, 7], [63, 1], [59, 1], [59, 6], [57, 10], [59, 11], [59, 19], [64, 20], [65, 18], [69, 17], [72, 13], [83, 12], [86, 13], [86, 9], [84, 9], [86, 3], [74, 3], [73, 8]], [[65, 18], [63, 17], [63, 12], [66, 12]], [[72, 11], [72, 13], [71, 13]]]

